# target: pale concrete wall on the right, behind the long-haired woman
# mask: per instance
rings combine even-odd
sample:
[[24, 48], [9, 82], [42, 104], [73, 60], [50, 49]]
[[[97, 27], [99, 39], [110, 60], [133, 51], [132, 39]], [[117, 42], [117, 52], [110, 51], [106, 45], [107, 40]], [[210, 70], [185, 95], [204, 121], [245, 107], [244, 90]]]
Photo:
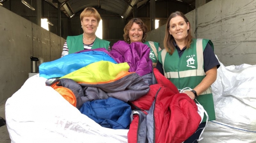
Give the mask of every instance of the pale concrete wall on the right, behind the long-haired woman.
[[[255, 7], [256, 0], [212, 0], [185, 15], [194, 37], [210, 39], [225, 66], [255, 65]], [[163, 48], [165, 26], [148, 32], [147, 40], [159, 42]]]

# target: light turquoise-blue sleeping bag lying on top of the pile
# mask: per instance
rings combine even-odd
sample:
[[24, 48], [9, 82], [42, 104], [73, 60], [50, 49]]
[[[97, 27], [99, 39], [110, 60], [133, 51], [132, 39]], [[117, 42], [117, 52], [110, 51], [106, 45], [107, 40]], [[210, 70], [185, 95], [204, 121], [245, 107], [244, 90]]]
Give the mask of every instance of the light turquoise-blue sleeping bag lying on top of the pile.
[[68, 54], [51, 62], [42, 63], [39, 66], [39, 76], [47, 79], [63, 77], [77, 69], [102, 60], [117, 63], [105, 48], [88, 49]]

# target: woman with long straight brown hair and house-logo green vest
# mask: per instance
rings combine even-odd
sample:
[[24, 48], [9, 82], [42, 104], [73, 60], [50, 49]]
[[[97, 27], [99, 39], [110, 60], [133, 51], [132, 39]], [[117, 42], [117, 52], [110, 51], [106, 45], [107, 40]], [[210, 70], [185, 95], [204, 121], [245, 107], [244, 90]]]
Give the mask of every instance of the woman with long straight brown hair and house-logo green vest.
[[213, 52], [213, 43], [207, 39], [193, 39], [187, 17], [179, 11], [168, 18], [165, 49], [158, 53], [156, 68], [191, 99], [200, 103], [208, 114], [204, 115], [197, 131], [184, 143], [197, 143], [206, 121], [215, 120], [211, 85], [220, 66]]

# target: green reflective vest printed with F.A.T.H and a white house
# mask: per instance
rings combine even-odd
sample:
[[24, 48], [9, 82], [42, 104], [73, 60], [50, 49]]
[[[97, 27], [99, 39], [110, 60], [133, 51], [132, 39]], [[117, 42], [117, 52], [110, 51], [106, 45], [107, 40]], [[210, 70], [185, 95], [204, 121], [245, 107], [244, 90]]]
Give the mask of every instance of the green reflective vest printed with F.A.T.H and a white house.
[[[204, 49], [209, 43], [207, 39], [193, 39], [190, 48], [185, 49], [179, 57], [177, 49], [170, 55], [166, 49], [162, 49], [158, 54], [158, 60], [163, 65], [165, 77], [168, 78], [178, 89], [195, 88], [205, 77], [204, 72]], [[190, 89], [189, 89], [190, 90]], [[200, 94], [196, 100], [202, 105], [209, 116], [209, 120], [215, 120], [215, 110], [211, 87]], [[204, 115], [203, 121], [207, 120]]]

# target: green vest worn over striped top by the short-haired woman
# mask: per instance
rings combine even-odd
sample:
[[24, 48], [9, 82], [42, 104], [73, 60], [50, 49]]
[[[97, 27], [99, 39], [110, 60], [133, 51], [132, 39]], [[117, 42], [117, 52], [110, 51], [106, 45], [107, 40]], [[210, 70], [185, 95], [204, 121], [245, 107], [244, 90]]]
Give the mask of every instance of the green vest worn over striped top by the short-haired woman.
[[[68, 46], [68, 54], [72, 54], [72, 53], [84, 50], [83, 34], [77, 35], [77, 36], [68, 36], [66, 39], [66, 42]], [[110, 43], [109, 41], [102, 40], [96, 37], [91, 49], [105, 48], [106, 50], [108, 50], [109, 43]]]

